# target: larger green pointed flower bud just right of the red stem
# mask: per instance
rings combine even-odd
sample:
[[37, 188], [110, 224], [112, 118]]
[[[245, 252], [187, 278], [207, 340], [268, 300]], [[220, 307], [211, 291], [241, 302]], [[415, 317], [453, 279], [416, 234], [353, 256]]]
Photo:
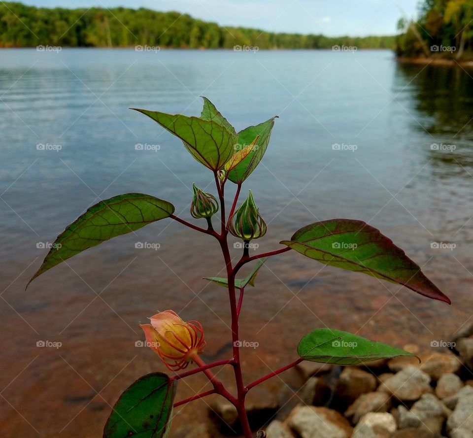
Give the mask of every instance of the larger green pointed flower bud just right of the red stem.
[[244, 241], [257, 239], [266, 234], [266, 222], [261, 217], [251, 193], [230, 218], [228, 230]]

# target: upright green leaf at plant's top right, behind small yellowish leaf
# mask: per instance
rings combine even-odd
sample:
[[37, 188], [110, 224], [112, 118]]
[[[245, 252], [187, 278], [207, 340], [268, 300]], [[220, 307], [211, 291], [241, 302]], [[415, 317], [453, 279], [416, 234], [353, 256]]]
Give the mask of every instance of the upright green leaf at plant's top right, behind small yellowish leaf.
[[238, 133], [238, 147], [244, 148], [250, 145], [254, 139], [259, 136], [255, 147], [248, 154], [248, 156], [239, 163], [236, 168], [231, 170], [228, 174], [228, 179], [235, 184], [242, 183], [251, 172], [258, 166], [263, 155], [265, 155], [268, 143], [270, 142], [271, 130], [274, 126], [274, 116], [266, 122], [260, 123], [257, 126], [249, 126], [248, 128]]

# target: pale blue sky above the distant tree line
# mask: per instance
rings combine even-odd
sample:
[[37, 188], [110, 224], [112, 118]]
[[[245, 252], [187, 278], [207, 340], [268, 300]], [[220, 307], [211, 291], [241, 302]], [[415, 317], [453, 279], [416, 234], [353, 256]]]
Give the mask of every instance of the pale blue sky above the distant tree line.
[[46, 7], [147, 7], [188, 13], [222, 26], [328, 36], [392, 35], [417, 15], [416, 0], [25, 0]]

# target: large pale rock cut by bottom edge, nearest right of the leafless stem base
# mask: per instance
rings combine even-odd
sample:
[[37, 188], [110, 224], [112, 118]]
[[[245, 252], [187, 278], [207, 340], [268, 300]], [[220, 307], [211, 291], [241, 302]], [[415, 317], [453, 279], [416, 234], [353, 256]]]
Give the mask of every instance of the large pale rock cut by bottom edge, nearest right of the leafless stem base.
[[319, 406], [296, 406], [287, 424], [301, 438], [349, 438], [353, 432], [339, 412]]

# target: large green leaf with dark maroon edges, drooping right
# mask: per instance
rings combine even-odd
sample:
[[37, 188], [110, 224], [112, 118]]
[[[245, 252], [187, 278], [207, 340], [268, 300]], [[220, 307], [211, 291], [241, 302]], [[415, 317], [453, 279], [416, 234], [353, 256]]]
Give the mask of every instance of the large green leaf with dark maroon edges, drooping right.
[[280, 243], [324, 265], [363, 272], [444, 301], [449, 298], [432, 283], [405, 252], [363, 221], [331, 219], [307, 225]]

